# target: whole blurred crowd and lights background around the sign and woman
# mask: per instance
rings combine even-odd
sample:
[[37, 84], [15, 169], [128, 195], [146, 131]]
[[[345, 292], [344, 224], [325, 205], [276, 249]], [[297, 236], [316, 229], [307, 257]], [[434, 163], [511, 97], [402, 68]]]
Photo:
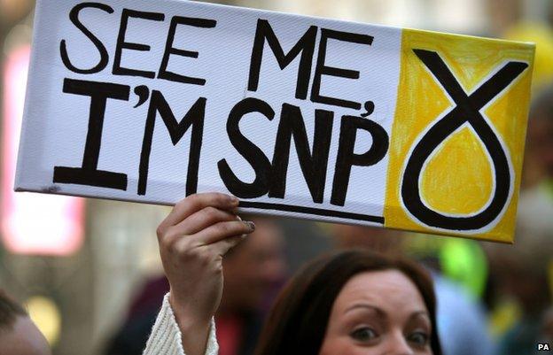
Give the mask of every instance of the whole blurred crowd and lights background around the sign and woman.
[[[221, 354], [251, 353], [271, 299], [304, 261], [350, 247], [400, 254], [432, 270], [446, 355], [553, 346], [553, 2], [220, 3], [537, 44], [515, 245], [253, 217], [253, 237], [225, 260]], [[0, 0], [0, 289], [27, 307], [55, 355], [139, 354], [168, 289], [155, 229], [169, 209], [12, 192], [33, 7]]]

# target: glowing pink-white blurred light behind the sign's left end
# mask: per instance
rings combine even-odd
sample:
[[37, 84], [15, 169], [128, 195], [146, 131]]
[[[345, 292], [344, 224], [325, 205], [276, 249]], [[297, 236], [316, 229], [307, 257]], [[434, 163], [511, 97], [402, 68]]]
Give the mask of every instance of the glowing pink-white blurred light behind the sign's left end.
[[20, 46], [4, 65], [2, 239], [13, 253], [64, 256], [82, 245], [82, 199], [13, 192], [29, 54]]

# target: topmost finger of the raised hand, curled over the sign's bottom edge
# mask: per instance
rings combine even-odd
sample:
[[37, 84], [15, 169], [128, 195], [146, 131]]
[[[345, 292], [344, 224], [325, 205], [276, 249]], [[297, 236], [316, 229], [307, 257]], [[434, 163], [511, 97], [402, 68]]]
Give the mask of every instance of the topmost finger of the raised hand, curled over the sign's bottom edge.
[[161, 224], [164, 226], [175, 226], [192, 213], [198, 212], [207, 206], [222, 210], [232, 210], [238, 206], [238, 198], [218, 192], [191, 195], [177, 203]]

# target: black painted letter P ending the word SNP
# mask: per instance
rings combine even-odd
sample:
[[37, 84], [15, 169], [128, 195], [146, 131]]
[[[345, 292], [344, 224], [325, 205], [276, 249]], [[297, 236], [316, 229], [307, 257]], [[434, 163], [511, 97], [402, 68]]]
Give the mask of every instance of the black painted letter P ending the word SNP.
[[[364, 153], [355, 154], [355, 138], [359, 129], [370, 133], [372, 144], [370, 149]], [[352, 166], [377, 164], [386, 156], [389, 139], [386, 130], [372, 120], [356, 116], [342, 116], [338, 146], [338, 158], [332, 181], [331, 204], [343, 206], [346, 203], [347, 185]]]

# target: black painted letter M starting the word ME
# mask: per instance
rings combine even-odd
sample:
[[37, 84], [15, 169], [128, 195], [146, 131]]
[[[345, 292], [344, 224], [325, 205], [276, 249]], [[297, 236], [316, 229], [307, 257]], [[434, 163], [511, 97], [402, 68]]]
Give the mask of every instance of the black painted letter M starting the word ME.
[[259, 85], [261, 60], [265, 41], [277, 58], [278, 66], [283, 70], [292, 63], [292, 60], [301, 53], [300, 66], [298, 68], [298, 81], [296, 82], [296, 98], [306, 99], [308, 96], [309, 78], [311, 77], [311, 63], [315, 51], [317, 27], [311, 26], [287, 54], [284, 54], [282, 46], [278, 42], [277, 35], [270, 27], [267, 19], [257, 20], [257, 29], [253, 40], [252, 58], [250, 61], [250, 74], [248, 79], [248, 90], [257, 91]]

